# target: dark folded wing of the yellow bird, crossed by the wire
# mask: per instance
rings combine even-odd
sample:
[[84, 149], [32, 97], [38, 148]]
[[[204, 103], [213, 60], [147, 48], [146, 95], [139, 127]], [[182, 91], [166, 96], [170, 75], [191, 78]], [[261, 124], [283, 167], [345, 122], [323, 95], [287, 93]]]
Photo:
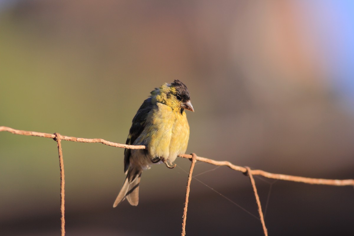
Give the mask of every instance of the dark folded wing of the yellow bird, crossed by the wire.
[[[149, 111], [152, 109], [153, 105], [151, 103], [151, 97], [146, 99], [140, 106], [139, 110], [135, 114], [132, 127], [130, 127], [127, 142], [125, 144], [131, 145], [134, 143], [135, 139], [143, 132], [146, 124], [146, 118], [148, 117]], [[127, 172], [129, 168], [129, 159], [131, 156], [131, 149], [124, 150], [124, 172]]]

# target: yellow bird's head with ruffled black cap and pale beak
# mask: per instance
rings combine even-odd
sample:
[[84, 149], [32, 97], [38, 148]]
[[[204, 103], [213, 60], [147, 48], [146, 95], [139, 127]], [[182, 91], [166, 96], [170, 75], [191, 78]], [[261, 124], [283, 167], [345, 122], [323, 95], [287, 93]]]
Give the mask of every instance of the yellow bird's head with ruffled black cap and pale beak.
[[163, 103], [173, 110], [186, 109], [194, 112], [187, 86], [179, 80], [174, 80], [171, 84], [165, 83], [160, 88], [155, 88], [151, 92], [151, 97], [156, 102]]

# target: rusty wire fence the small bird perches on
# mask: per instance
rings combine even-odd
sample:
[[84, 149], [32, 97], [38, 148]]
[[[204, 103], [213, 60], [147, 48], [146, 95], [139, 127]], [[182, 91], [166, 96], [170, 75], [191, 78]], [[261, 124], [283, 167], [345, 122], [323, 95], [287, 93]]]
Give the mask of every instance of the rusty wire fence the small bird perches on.
[[[118, 148], [127, 148], [127, 149], [145, 149], [144, 145], [126, 145], [126, 144], [109, 142], [109, 141], [101, 139], [101, 138], [94, 138], [94, 139], [76, 138], [76, 137], [63, 136], [59, 133], [50, 134], [50, 133], [41, 133], [41, 132], [35, 132], [35, 131], [24, 131], [24, 130], [13, 129], [13, 128], [6, 127], [6, 126], [0, 126], [0, 132], [1, 131], [7, 131], [7, 132], [10, 132], [13, 134], [26, 135], [26, 136], [52, 138], [57, 142], [58, 154], [59, 154], [59, 164], [60, 164], [60, 180], [61, 180], [61, 182], [60, 182], [60, 185], [61, 185], [60, 195], [61, 195], [61, 235], [62, 236], [65, 235], [65, 188], [64, 188], [65, 187], [65, 177], [64, 177], [64, 162], [63, 162], [63, 152], [62, 152], [61, 140], [82, 142], [82, 143], [103, 143], [105, 145], [114, 146], [114, 147], [118, 147]], [[306, 183], [306, 184], [323, 184], [323, 185], [335, 185], [335, 186], [352, 185], [352, 186], [354, 186], [354, 179], [343, 179], [343, 180], [316, 179], [316, 178], [299, 177], [299, 176], [294, 176], [294, 175], [274, 174], [274, 173], [269, 173], [269, 172], [265, 172], [265, 171], [257, 170], [257, 169], [252, 170], [252, 169], [250, 169], [250, 167], [236, 166], [228, 161], [215, 161], [215, 160], [208, 159], [205, 157], [197, 156], [194, 153], [191, 155], [184, 154], [181, 157], [190, 159], [192, 161], [192, 164], [191, 164], [190, 170], [189, 170], [189, 174], [188, 174], [187, 190], [186, 190], [186, 194], [185, 194], [184, 211], [183, 211], [183, 216], [182, 216], [182, 231], [181, 231], [182, 236], [185, 235], [185, 225], [186, 225], [186, 220], [187, 220], [187, 209], [188, 209], [190, 182], [192, 181], [192, 174], [193, 174], [193, 169], [194, 169], [196, 161], [202, 161], [202, 162], [206, 162], [206, 163], [209, 163], [211, 165], [216, 165], [216, 166], [228, 166], [229, 168], [231, 168], [235, 171], [240, 171], [240, 172], [244, 173], [246, 176], [248, 176], [250, 178], [253, 192], [254, 192], [255, 198], [256, 198], [256, 203], [258, 206], [259, 218], [261, 220], [261, 224], [262, 224], [263, 232], [264, 232], [265, 236], [268, 236], [268, 232], [267, 232], [267, 228], [265, 227], [263, 213], [262, 213], [262, 206], [261, 206], [261, 202], [259, 200], [255, 180], [253, 179], [253, 175], [262, 175], [263, 177], [270, 178], [270, 179], [280, 179], [280, 180], [286, 180], [286, 181], [301, 182], [301, 183]]]

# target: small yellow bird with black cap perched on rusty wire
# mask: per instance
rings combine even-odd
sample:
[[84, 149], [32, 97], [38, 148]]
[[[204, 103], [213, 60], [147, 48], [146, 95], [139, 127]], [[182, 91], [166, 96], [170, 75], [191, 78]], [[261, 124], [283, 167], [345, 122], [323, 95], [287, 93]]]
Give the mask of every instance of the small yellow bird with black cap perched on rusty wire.
[[155, 163], [174, 168], [177, 156], [187, 150], [189, 124], [185, 110], [194, 112], [187, 86], [174, 80], [150, 94], [134, 116], [126, 141], [128, 145], [145, 145], [145, 149], [124, 150], [126, 178], [113, 207], [125, 199], [137, 206], [142, 171]]

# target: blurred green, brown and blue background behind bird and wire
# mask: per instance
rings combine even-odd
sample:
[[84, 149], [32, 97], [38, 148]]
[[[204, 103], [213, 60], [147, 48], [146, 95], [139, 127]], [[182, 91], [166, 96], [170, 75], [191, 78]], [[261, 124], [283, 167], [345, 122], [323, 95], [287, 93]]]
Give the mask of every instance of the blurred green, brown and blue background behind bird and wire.
[[[353, 1], [0, 0], [0, 125], [15, 129], [124, 143], [149, 92], [179, 79], [187, 153], [349, 179], [353, 63]], [[0, 133], [1, 235], [60, 234], [56, 145]], [[112, 208], [124, 150], [62, 147], [67, 235], [180, 235], [190, 161], [144, 171], [139, 205]], [[249, 178], [194, 174], [187, 235], [263, 235]], [[353, 187], [256, 184], [269, 235], [354, 235]]]

